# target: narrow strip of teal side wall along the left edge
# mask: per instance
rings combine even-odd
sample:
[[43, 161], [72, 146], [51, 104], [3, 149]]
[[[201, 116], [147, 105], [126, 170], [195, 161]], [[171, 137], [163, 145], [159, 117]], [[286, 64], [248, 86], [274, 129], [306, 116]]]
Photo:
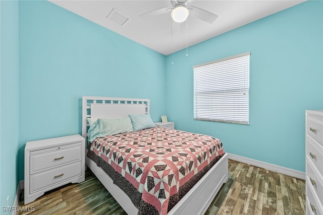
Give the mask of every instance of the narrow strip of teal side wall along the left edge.
[[[0, 206], [12, 206], [18, 187], [19, 149], [19, 8], [0, 1]], [[2, 211], [1, 214], [7, 214]]]

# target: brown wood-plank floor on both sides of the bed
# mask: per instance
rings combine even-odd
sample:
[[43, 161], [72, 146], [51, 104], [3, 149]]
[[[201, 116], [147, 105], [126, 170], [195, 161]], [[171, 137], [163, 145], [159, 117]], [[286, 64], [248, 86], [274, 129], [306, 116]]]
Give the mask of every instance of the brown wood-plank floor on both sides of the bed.
[[[51, 190], [19, 206], [34, 211], [17, 214], [126, 214], [93, 173], [85, 181]], [[209, 214], [305, 214], [305, 181], [229, 160], [229, 180], [213, 199]]]

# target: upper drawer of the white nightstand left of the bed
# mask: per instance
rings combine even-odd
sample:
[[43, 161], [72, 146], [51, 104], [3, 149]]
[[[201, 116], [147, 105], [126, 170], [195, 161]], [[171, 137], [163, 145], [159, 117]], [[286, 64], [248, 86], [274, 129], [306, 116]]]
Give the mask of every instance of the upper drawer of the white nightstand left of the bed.
[[30, 156], [30, 174], [81, 160], [82, 145]]

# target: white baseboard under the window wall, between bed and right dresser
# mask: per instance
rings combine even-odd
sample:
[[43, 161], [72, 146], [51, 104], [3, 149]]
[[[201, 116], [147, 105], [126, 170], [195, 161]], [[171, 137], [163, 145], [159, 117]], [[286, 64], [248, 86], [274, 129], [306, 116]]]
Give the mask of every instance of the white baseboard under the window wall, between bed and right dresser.
[[[228, 153], [229, 154], [229, 153]], [[295, 177], [295, 178], [300, 178], [305, 180], [305, 172], [301, 172], [298, 170], [293, 170], [293, 169], [289, 169], [286, 167], [281, 167], [275, 164], [270, 164], [270, 163], [266, 163], [266, 162], [262, 162], [262, 161], [257, 161], [257, 160], [253, 160], [250, 158], [245, 158], [239, 155], [233, 155], [233, 154], [229, 154], [229, 159], [234, 160], [234, 161], [238, 161], [241, 163], [245, 163], [245, 164], [250, 164], [253, 166], [257, 166], [266, 170], [270, 170], [273, 172], [277, 172], [280, 174], [284, 174], [284, 175], [288, 175], [291, 177]]]

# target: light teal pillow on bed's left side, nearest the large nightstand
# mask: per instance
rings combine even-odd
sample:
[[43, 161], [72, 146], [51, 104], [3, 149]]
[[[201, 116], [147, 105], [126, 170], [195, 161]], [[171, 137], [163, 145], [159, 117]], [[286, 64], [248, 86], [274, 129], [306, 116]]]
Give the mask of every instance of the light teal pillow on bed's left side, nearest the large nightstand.
[[87, 131], [90, 142], [92, 142], [96, 137], [133, 131], [132, 123], [128, 116], [114, 119], [99, 118], [92, 122], [92, 124], [91, 122], [89, 121], [90, 128]]

